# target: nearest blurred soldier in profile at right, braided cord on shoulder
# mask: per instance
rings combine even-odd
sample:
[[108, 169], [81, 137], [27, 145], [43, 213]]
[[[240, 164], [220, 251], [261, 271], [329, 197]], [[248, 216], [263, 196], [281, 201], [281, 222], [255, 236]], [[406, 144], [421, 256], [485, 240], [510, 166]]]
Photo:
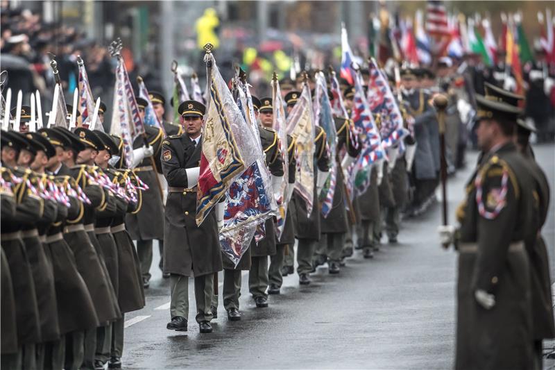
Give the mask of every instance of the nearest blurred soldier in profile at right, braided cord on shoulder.
[[[513, 144], [521, 110], [476, 96], [484, 153], [459, 205], [459, 230], [440, 226], [459, 250], [456, 369], [531, 369], [529, 241], [536, 239], [533, 178]], [[456, 234], [456, 237], [455, 237]]]

